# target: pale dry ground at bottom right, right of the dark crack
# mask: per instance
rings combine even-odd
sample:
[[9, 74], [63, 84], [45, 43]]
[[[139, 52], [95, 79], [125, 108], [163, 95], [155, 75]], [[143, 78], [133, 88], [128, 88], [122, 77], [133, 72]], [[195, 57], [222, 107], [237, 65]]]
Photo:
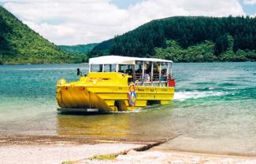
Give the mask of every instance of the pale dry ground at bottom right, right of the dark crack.
[[77, 164], [255, 164], [256, 158], [186, 151], [129, 151], [114, 160], [85, 159]]

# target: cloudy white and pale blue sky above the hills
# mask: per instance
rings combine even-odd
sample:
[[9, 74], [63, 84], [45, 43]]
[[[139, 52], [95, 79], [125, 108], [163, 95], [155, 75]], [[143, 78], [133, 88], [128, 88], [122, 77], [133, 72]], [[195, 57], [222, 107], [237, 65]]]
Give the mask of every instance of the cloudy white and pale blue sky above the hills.
[[102, 42], [169, 16], [256, 16], [256, 0], [0, 0], [56, 45]]

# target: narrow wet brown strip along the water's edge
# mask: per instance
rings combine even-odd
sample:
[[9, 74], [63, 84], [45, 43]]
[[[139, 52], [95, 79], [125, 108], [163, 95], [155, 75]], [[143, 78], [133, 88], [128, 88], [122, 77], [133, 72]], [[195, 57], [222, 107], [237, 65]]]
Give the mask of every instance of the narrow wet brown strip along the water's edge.
[[[228, 151], [200, 151], [200, 150], [185, 150], [183, 148], [176, 148], [173, 145], [169, 144], [173, 141], [179, 139], [180, 136], [176, 136], [169, 139], [127, 139], [127, 138], [118, 138], [118, 139], [110, 139], [110, 138], [96, 138], [96, 137], [84, 137], [84, 136], [57, 136], [57, 135], [21, 135], [21, 134], [10, 134], [10, 135], [2, 135], [0, 134], [0, 147], [6, 146], [28, 146], [28, 145], [54, 145], [54, 144], [73, 144], [73, 145], [80, 145], [80, 144], [140, 144], [146, 145], [146, 151], [148, 149], [156, 149], [160, 151], [180, 151], [180, 152], [191, 152], [191, 153], [199, 153], [199, 154], [207, 154], [207, 155], [232, 155], [232, 156], [243, 156], [243, 157], [255, 157], [254, 154], [246, 154], [246, 153], [236, 153], [236, 152], [228, 152]], [[178, 140], [179, 142], [179, 140]], [[171, 147], [170, 147], [171, 145]], [[140, 148], [139, 151], [145, 148]]]

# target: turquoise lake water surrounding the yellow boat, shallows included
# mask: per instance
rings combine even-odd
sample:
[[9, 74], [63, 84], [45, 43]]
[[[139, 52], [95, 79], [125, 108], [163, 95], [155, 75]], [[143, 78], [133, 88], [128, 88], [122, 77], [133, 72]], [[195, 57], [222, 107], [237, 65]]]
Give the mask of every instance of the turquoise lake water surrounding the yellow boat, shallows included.
[[[86, 64], [0, 65], [0, 134], [154, 140], [170, 148], [256, 155], [256, 63], [174, 64], [172, 104], [110, 115], [59, 115], [59, 78]], [[234, 150], [236, 149], [236, 150]]]

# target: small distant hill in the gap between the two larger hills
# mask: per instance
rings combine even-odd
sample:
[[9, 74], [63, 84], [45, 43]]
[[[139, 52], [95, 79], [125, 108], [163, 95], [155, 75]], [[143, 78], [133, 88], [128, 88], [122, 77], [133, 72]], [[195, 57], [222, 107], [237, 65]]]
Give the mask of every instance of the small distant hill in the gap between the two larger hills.
[[87, 45], [76, 45], [76, 46], [58, 46], [60, 49], [67, 53], [72, 53], [72, 54], [85, 54], [91, 51], [97, 43], [91, 43]]

